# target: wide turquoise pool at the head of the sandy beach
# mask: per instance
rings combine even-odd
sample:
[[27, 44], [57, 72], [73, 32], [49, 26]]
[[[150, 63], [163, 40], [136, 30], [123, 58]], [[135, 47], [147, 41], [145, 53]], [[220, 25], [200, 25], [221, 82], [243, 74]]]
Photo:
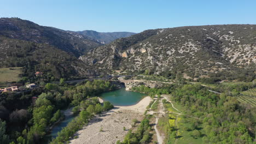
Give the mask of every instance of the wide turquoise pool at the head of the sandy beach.
[[125, 91], [121, 88], [117, 91], [102, 93], [100, 97], [116, 106], [129, 106], [137, 104], [146, 94]]

